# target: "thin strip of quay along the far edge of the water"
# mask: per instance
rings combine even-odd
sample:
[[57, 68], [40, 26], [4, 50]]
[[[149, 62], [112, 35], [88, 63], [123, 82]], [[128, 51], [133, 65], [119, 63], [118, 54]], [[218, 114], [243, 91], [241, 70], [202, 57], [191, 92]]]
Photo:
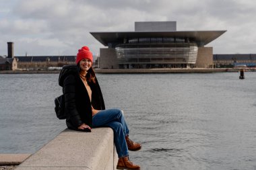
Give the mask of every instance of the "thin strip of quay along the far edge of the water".
[[[144, 73], [225, 73], [238, 72], [239, 69], [94, 69], [95, 73], [102, 74], [144, 74]], [[246, 69], [246, 72], [255, 72], [256, 69]], [[55, 71], [0, 71], [0, 74], [50, 74]]]

